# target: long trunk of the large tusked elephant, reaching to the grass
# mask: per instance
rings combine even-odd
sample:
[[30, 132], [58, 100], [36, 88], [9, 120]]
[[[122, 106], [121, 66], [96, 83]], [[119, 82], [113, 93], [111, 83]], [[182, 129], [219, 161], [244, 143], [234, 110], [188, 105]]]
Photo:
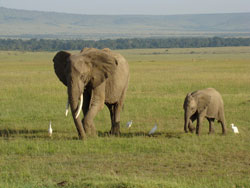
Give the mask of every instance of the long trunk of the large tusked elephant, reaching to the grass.
[[76, 91], [76, 88], [78, 87], [72, 87], [68, 86], [68, 97], [69, 97], [69, 104], [72, 112], [72, 116], [74, 119], [74, 123], [78, 132], [79, 139], [86, 138], [85, 131], [83, 129], [82, 121], [79, 116], [79, 108], [81, 109], [81, 106], [79, 104], [79, 99], [82, 98], [82, 92]]

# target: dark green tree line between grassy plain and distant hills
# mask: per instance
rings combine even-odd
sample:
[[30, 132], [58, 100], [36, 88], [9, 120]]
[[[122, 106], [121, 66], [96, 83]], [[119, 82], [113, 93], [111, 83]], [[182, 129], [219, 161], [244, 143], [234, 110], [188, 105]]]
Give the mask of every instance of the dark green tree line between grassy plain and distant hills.
[[250, 46], [250, 38], [133, 38], [104, 40], [0, 39], [0, 50], [58, 51], [82, 48], [139, 49], [139, 48], [201, 48]]

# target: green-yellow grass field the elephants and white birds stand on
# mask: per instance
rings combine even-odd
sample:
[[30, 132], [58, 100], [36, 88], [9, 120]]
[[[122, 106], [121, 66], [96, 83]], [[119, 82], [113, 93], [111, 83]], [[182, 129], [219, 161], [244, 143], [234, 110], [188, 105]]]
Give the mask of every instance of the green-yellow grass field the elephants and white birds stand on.
[[[104, 108], [95, 118], [99, 137], [79, 141], [64, 116], [55, 52], [0, 52], [0, 187], [250, 187], [250, 47], [120, 53], [131, 73], [122, 134], [106, 134]], [[226, 136], [218, 123], [214, 135], [207, 122], [200, 137], [183, 131], [186, 94], [206, 87], [222, 94]], [[156, 134], [147, 136], [155, 123]]]

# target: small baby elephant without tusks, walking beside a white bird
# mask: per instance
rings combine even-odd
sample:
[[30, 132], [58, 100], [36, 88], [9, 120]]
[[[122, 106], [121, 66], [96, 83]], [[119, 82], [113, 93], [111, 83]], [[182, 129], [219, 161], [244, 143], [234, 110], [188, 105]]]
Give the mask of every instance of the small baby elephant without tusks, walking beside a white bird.
[[218, 91], [213, 88], [194, 91], [188, 93], [184, 104], [184, 130], [187, 133], [187, 127], [193, 132], [192, 122], [197, 119], [196, 134], [200, 135], [200, 126], [204, 118], [209, 122], [209, 134], [214, 133], [214, 120], [221, 123], [222, 133], [226, 134], [224, 104]]

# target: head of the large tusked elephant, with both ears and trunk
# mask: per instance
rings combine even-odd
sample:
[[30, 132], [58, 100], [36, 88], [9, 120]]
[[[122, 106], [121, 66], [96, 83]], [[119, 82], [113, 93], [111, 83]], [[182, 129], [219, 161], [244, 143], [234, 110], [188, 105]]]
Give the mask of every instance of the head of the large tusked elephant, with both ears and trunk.
[[85, 131], [78, 115], [82, 107], [84, 89], [86, 86], [95, 89], [103, 83], [113, 74], [117, 62], [107, 53], [97, 49], [75, 55], [60, 51], [53, 62], [57, 77], [67, 86], [68, 102], [79, 138], [82, 139], [85, 137]]

